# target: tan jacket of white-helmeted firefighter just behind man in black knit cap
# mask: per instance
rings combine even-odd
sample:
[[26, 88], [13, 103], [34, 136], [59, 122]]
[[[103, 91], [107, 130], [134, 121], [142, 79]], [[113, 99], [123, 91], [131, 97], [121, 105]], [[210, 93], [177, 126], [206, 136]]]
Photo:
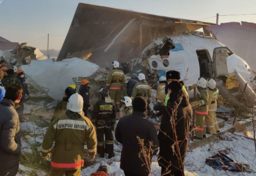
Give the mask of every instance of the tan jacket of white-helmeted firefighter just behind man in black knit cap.
[[151, 101], [151, 90], [149, 89], [149, 84], [146, 80], [140, 80], [133, 87], [133, 93], [131, 99], [133, 100], [135, 97], [144, 97], [148, 102]]

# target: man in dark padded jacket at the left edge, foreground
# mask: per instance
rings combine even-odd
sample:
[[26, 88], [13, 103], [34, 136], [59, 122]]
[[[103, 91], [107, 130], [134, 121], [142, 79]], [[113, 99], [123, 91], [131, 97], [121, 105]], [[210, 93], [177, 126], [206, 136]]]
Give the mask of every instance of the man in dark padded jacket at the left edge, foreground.
[[22, 98], [22, 89], [16, 85], [5, 89], [5, 97], [0, 103], [0, 175], [14, 176], [21, 157], [21, 134], [16, 109]]

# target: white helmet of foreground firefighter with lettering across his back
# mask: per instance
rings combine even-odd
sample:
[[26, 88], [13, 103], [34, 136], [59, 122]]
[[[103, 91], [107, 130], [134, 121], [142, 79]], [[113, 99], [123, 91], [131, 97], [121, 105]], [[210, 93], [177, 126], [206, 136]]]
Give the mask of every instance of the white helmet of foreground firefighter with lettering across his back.
[[80, 96], [80, 94], [78, 93], [72, 94], [72, 96], [69, 97], [67, 109], [75, 113], [79, 113], [80, 111], [82, 111], [83, 97]]

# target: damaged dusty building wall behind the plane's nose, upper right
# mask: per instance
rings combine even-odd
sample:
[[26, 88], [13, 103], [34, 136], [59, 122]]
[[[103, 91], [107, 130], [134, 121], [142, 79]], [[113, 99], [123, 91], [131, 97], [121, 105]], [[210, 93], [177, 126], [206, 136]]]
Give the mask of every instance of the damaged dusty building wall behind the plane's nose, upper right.
[[221, 23], [221, 25], [207, 26], [206, 29], [213, 32], [220, 42], [242, 57], [250, 65], [251, 70], [256, 70], [256, 23]]

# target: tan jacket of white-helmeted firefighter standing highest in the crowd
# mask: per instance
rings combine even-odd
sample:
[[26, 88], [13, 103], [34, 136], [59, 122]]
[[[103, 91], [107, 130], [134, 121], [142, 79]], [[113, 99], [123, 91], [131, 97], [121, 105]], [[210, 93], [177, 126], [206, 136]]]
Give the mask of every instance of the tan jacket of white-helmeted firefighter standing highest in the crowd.
[[123, 71], [119, 68], [116, 68], [109, 73], [106, 87], [110, 87], [110, 90], [111, 89], [121, 90], [121, 87], [123, 86], [124, 81], [125, 79], [124, 79]]

